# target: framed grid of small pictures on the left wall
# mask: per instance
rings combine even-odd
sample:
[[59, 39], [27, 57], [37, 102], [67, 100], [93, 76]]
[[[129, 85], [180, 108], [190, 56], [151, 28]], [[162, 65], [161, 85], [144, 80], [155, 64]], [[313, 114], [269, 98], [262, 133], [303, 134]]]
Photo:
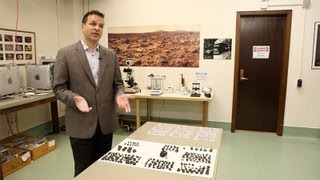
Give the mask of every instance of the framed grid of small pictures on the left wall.
[[0, 28], [0, 65], [36, 63], [34, 32]]

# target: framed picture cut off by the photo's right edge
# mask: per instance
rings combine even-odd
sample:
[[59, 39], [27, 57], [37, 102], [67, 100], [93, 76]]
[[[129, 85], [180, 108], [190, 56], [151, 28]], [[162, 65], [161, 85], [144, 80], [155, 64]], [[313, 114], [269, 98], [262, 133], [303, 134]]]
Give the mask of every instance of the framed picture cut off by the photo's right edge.
[[312, 69], [320, 69], [320, 22], [314, 23]]

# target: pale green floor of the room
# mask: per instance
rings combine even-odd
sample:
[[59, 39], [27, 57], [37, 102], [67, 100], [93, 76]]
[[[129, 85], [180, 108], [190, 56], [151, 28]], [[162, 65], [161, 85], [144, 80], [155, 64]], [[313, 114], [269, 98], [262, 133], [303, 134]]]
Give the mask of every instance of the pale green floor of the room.
[[[114, 136], [114, 145], [128, 135], [119, 129]], [[56, 140], [56, 150], [4, 180], [72, 179], [73, 162], [68, 137], [63, 133], [52, 137]], [[224, 131], [216, 179], [319, 180], [320, 139]]]

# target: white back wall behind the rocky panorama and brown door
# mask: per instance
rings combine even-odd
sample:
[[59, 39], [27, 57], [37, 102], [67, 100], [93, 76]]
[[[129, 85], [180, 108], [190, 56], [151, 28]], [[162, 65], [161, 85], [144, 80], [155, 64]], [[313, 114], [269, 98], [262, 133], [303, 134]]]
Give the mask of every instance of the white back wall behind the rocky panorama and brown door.
[[[183, 73], [187, 83], [194, 79], [195, 72], [207, 72], [205, 84], [214, 89], [214, 100], [209, 105], [209, 120], [231, 122], [234, 45], [237, 11], [260, 10], [260, 0], [94, 0], [90, 9], [98, 9], [106, 14], [107, 27], [152, 26], [152, 25], [194, 25], [201, 26], [201, 52], [199, 68], [154, 68], [135, 67], [136, 81], [142, 88], [149, 85], [147, 75], [150, 73], [166, 74], [165, 84], [179, 86], [179, 73]], [[313, 28], [319, 21], [320, 2], [313, 0], [308, 9], [303, 9], [303, 0], [270, 0], [268, 10], [291, 9], [292, 32], [290, 45], [289, 72], [287, 84], [287, 101], [285, 109], [285, 126], [320, 127], [318, 108], [320, 107], [320, 71], [311, 70]], [[300, 5], [299, 5], [300, 4]], [[107, 34], [107, 32], [105, 32]], [[202, 59], [203, 38], [232, 38], [233, 51], [231, 61], [206, 61]], [[107, 45], [107, 38], [102, 44]], [[303, 87], [297, 88], [297, 79], [303, 79]], [[152, 113], [158, 117], [176, 117], [182, 119], [201, 119], [201, 109], [192, 104], [179, 105], [165, 102], [162, 108], [156, 105]], [[161, 112], [160, 112], [161, 111]], [[181, 113], [182, 112], [182, 113]], [[189, 114], [185, 114], [189, 112]], [[191, 113], [191, 114], [190, 114]]]

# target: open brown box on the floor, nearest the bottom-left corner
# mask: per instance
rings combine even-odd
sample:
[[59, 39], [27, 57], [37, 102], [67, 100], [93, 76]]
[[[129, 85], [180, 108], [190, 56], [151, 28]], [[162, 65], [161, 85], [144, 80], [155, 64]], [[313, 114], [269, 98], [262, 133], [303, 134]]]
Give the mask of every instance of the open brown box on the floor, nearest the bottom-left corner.
[[5, 148], [1, 153], [9, 155], [9, 158], [1, 164], [3, 176], [7, 176], [31, 162], [29, 151]]

